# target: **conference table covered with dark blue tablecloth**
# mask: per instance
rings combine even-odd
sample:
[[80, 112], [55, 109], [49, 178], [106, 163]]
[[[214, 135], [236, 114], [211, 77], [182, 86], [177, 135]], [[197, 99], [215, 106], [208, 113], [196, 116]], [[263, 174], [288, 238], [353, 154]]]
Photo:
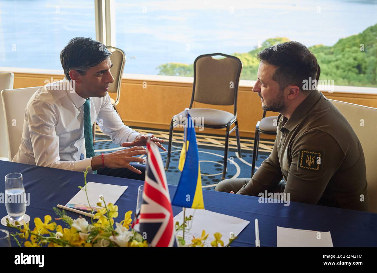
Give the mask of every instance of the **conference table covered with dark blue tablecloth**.
[[[20, 172], [23, 175], [25, 191], [30, 192], [30, 205], [26, 208], [26, 214], [32, 219], [31, 229], [34, 228], [35, 217], [40, 217], [42, 220], [47, 214], [52, 218], [57, 217], [52, 208], [57, 204], [65, 205], [79, 191], [77, 186], [84, 186], [83, 172], [0, 160], [0, 176], [2, 177], [0, 192], [5, 191], [5, 175], [11, 172]], [[126, 211], [135, 212], [138, 187], [144, 181], [97, 174], [88, 174], [87, 181], [128, 186], [115, 203], [118, 205], [119, 212], [118, 217], [115, 218], [116, 222], [123, 220]], [[174, 185], [169, 185], [171, 197], [176, 188]], [[259, 197], [208, 190], [203, 191], [203, 198], [207, 210], [250, 221], [231, 244], [234, 247], [255, 246], [254, 220], [256, 218], [259, 221], [261, 247], [276, 247], [277, 226], [320, 232], [330, 231], [334, 247], [377, 246], [377, 214], [374, 213], [296, 202], [290, 202], [289, 206], [284, 206], [283, 203], [259, 203]], [[174, 215], [181, 211], [181, 207], [173, 206]], [[79, 216], [74, 212], [66, 212], [74, 219]], [[5, 204], [0, 204], [0, 217], [5, 215], [7, 215]], [[63, 222], [60, 224], [64, 226]], [[0, 228], [15, 231], [2, 225]], [[227, 235], [223, 234], [223, 236]], [[12, 238], [11, 244], [17, 246]]]

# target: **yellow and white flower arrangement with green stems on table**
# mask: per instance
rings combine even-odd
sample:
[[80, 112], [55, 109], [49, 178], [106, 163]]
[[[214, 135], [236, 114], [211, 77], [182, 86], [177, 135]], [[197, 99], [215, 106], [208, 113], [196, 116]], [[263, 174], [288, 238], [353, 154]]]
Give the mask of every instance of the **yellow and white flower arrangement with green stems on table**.
[[[86, 193], [88, 200], [89, 208], [91, 209], [90, 213], [94, 212], [92, 206], [90, 206], [89, 198], [87, 196], [86, 190], [86, 175], [89, 167], [84, 172], [84, 183], [85, 186], [78, 188], [82, 189]], [[62, 227], [54, 221], [50, 215], [44, 216], [44, 222], [39, 218], [34, 218], [35, 227], [33, 230], [30, 229], [30, 223], [23, 223], [23, 227], [20, 226], [19, 222], [15, 222], [13, 225], [9, 222], [7, 218], [7, 226], [17, 229], [17, 232], [11, 233], [11, 236], [15, 239], [18, 246], [22, 246], [22, 243], [25, 247], [147, 247], [148, 243], [143, 236], [131, 228], [132, 224], [132, 211], [129, 210], [124, 214], [124, 220], [120, 223], [115, 223], [113, 218], [118, 217], [118, 206], [114, 206], [112, 203], [106, 205], [102, 196], [100, 196], [99, 202], [97, 203], [98, 207], [101, 207], [94, 214], [94, 219], [97, 220], [93, 222], [91, 218], [91, 223], [85, 218], [79, 216], [77, 219], [73, 219], [66, 215], [64, 210], [60, 210], [54, 207], [55, 213], [59, 216], [55, 220], [61, 220], [65, 223], [67, 227]], [[175, 223], [176, 232], [179, 230], [184, 230], [187, 227], [189, 221], [192, 221], [193, 216], [185, 217], [184, 223], [179, 224]], [[28, 241], [30, 236], [30, 241]], [[189, 246], [189, 247], [203, 247], [204, 243], [208, 237], [208, 234], [205, 234], [203, 230], [200, 238], [195, 238], [191, 240], [190, 244], [186, 244], [182, 237], [178, 236], [178, 241], [180, 246]], [[224, 242], [221, 240], [221, 233], [216, 232], [214, 234], [215, 240], [211, 242], [211, 246], [224, 246]], [[25, 242], [22, 241], [25, 239]], [[234, 238], [236, 239], [236, 238]], [[230, 239], [229, 244], [234, 240]]]

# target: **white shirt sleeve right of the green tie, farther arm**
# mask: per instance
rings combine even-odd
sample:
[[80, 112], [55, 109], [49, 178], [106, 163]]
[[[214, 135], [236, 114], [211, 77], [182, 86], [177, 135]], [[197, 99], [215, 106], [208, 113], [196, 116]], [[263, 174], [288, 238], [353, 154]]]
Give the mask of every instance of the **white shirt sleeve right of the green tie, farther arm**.
[[118, 145], [122, 145], [123, 142], [131, 142], [140, 135], [139, 132], [124, 125], [120, 116], [114, 110], [108, 93], [103, 99], [96, 121], [102, 132], [109, 135], [111, 140]]

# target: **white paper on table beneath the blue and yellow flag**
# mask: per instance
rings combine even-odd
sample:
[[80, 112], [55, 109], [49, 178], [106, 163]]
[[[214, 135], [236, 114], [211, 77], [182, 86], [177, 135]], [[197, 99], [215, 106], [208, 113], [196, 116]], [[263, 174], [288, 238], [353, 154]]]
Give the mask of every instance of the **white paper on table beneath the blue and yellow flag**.
[[[193, 215], [192, 221], [189, 221], [188, 226], [185, 228], [185, 241], [191, 243], [193, 236], [200, 238], [202, 231], [209, 234], [204, 245], [211, 246], [211, 241], [215, 240], [214, 233], [220, 232], [222, 234], [221, 240], [224, 246], [229, 243], [230, 236], [238, 236], [238, 234], [247, 226], [250, 221], [241, 218], [212, 212], [205, 209], [186, 209], [186, 217]], [[183, 211], [174, 217], [174, 223], [178, 221], [179, 224], [183, 223]], [[182, 230], [176, 233], [182, 236]]]

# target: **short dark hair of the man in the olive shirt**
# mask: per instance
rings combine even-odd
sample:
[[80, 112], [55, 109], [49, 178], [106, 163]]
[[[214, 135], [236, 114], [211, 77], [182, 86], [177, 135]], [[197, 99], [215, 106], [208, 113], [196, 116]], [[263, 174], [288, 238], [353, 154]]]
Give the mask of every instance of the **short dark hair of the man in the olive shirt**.
[[[302, 92], [310, 93], [310, 90], [303, 90], [303, 81], [310, 82], [316, 79], [317, 58], [303, 44], [298, 42], [285, 42], [265, 48], [258, 53], [258, 60], [273, 66], [277, 69], [272, 77], [280, 88], [288, 85], [297, 85]], [[316, 86], [316, 85], [315, 85]]]

